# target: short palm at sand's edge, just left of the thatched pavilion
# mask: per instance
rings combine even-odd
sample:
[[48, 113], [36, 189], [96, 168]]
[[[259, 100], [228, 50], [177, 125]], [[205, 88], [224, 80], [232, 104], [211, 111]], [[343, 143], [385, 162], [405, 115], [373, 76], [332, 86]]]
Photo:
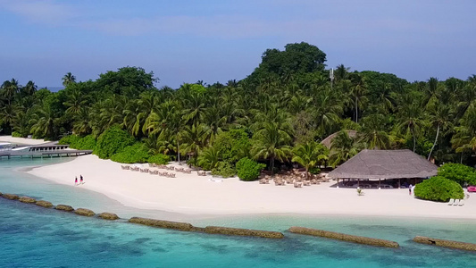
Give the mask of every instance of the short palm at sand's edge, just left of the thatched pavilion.
[[296, 162], [305, 167], [305, 179], [309, 179], [309, 169], [322, 161], [328, 160], [329, 149], [315, 141], [309, 141], [293, 149], [292, 162]]

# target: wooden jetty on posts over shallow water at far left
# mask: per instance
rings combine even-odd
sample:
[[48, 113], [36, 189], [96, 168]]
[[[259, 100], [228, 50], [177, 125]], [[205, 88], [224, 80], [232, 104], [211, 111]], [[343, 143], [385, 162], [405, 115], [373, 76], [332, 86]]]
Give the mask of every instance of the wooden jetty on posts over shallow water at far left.
[[92, 150], [71, 150], [68, 149], [69, 145], [58, 145], [57, 142], [49, 142], [36, 146], [28, 146], [22, 150], [4, 150], [0, 151], [0, 160], [6, 157], [8, 159], [12, 157], [20, 158], [43, 158], [43, 157], [69, 157], [79, 155], [90, 155]]

